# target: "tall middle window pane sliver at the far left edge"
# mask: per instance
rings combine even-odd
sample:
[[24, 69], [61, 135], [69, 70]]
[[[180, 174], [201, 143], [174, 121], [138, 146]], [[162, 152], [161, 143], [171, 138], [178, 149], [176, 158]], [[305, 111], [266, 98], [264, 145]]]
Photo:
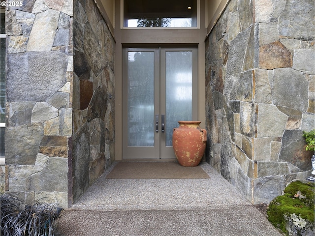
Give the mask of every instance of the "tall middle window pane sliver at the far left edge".
[[1, 38], [0, 52], [0, 122], [5, 122], [5, 38]]

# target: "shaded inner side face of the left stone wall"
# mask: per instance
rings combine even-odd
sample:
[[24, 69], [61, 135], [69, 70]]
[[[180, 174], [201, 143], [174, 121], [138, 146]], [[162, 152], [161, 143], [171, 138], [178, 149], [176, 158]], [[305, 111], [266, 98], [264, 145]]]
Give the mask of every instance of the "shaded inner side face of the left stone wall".
[[94, 0], [74, 0], [73, 46], [75, 201], [115, 160], [115, 41]]

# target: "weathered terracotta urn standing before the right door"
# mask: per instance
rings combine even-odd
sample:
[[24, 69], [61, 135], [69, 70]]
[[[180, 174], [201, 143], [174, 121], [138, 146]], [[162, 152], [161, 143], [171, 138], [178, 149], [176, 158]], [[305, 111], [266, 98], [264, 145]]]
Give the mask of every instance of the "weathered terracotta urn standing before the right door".
[[206, 149], [207, 131], [201, 129], [201, 121], [178, 121], [179, 127], [174, 128], [173, 148], [179, 164], [197, 166]]

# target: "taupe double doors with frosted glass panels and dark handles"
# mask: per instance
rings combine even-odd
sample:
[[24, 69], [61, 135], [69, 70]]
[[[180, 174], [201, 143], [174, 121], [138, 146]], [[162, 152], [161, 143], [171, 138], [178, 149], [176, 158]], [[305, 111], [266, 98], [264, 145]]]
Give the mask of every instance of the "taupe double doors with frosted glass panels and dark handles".
[[173, 128], [197, 120], [197, 48], [124, 48], [123, 158], [173, 159]]

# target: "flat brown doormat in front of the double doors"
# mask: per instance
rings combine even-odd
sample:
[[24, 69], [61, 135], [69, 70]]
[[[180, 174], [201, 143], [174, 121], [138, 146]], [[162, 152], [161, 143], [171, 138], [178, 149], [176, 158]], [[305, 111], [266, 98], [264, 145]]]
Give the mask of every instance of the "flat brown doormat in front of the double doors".
[[200, 167], [184, 167], [178, 162], [119, 162], [106, 178], [210, 178]]

